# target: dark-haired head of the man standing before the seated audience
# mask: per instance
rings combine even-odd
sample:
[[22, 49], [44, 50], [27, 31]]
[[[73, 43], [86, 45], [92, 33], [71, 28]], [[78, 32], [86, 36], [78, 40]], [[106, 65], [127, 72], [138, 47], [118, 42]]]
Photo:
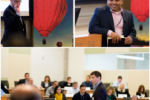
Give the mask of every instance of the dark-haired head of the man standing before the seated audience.
[[91, 82], [93, 85], [96, 85], [101, 81], [101, 73], [98, 71], [92, 72], [90, 76], [91, 76]]

